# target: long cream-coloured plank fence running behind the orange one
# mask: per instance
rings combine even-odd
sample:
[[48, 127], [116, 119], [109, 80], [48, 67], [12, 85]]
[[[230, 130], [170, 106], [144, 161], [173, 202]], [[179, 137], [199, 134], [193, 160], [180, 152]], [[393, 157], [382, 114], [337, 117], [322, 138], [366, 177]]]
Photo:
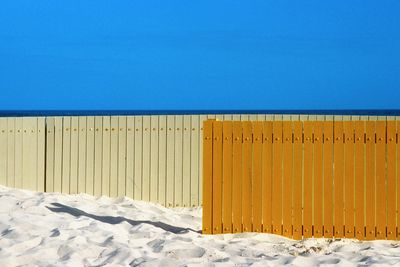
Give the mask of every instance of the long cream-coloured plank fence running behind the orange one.
[[128, 196], [165, 206], [198, 206], [203, 191], [202, 125], [210, 118], [359, 120], [360, 116], [0, 118], [0, 184], [45, 192]]

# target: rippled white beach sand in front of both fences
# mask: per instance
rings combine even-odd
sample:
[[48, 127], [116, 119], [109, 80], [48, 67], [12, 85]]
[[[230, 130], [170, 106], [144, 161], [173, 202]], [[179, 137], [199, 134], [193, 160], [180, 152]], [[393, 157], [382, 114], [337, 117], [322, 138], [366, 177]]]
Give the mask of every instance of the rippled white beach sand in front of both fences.
[[395, 241], [200, 229], [200, 208], [0, 187], [0, 266], [400, 266]]

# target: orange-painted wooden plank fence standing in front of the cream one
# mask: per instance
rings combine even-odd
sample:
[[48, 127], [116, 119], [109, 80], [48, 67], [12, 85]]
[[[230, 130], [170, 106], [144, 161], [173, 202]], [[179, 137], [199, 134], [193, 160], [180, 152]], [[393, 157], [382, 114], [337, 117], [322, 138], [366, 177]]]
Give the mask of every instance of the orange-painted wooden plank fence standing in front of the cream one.
[[203, 233], [400, 239], [400, 122], [206, 121]]

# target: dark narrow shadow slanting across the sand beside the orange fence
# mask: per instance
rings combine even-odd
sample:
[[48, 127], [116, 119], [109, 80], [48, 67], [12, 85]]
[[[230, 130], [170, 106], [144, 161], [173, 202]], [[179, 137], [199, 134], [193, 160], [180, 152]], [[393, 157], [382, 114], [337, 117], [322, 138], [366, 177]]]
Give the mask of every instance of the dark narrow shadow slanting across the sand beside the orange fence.
[[75, 216], [75, 217], [85, 216], [85, 217], [88, 217], [88, 218], [91, 218], [91, 219], [94, 219], [94, 220], [97, 220], [97, 221], [100, 221], [100, 222], [103, 222], [103, 223], [108, 223], [108, 224], [119, 224], [119, 223], [122, 223], [122, 222], [127, 222], [132, 226], [136, 226], [136, 225], [145, 223], [145, 224], [150, 224], [150, 225], [152, 225], [154, 227], [161, 228], [164, 231], [167, 231], [167, 232], [170, 232], [170, 233], [174, 233], [174, 234], [185, 234], [185, 233], [187, 233], [189, 231], [195, 232], [195, 233], [201, 233], [201, 230], [200, 231], [196, 231], [196, 230], [193, 230], [191, 228], [177, 227], [177, 226], [173, 226], [173, 225], [166, 224], [166, 223], [163, 223], [163, 222], [158, 222], [158, 221], [156, 221], [156, 222], [153, 222], [153, 221], [139, 221], [139, 220], [127, 219], [127, 218], [122, 217], [122, 216], [118, 216], [118, 217], [114, 217], [114, 216], [99, 216], [99, 215], [87, 213], [87, 212], [85, 212], [83, 210], [80, 210], [80, 209], [77, 209], [77, 208], [72, 208], [72, 207], [63, 205], [63, 204], [60, 204], [60, 203], [51, 203], [51, 204], [54, 207], [49, 207], [49, 206], [46, 206], [46, 207], [52, 212], [68, 213], [68, 214], [70, 214], [72, 216]]

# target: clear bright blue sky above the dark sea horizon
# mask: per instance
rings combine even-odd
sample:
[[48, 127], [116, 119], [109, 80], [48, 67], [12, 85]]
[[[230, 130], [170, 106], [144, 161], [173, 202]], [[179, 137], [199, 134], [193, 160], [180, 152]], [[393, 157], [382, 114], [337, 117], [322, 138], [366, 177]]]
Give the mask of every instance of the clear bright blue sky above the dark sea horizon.
[[17, 1], [0, 109], [399, 109], [400, 1]]

